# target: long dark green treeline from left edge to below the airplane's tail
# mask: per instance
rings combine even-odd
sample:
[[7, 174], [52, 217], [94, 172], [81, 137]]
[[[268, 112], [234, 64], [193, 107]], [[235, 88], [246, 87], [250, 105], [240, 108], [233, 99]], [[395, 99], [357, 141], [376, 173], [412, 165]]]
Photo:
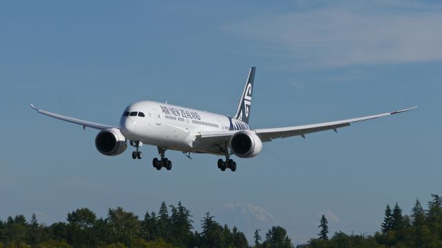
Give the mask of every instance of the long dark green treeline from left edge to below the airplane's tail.
[[[87, 208], [68, 213], [66, 222], [50, 226], [39, 223], [35, 214], [28, 222], [23, 215], [0, 220], [0, 248], [3, 247], [250, 247], [236, 227], [220, 225], [206, 213], [201, 220], [202, 232], [193, 231], [191, 214], [181, 203], [160, 211], [138, 216], [121, 207], [108, 209], [106, 218], [97, 218]], [[254, 247], [289, 248], [291, 240], [282, 227], [272, 227], [261, 241], [255, 233]]]

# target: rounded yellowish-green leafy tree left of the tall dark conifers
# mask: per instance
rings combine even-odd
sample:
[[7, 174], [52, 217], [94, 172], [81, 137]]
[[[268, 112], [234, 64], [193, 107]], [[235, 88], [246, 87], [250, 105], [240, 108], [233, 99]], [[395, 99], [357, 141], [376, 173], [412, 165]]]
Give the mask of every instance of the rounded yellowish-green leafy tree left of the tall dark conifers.
[[122, 207], [109, 209], [108, 218], [109, 236], [113, 242], [122, 242], [130, 247], [132, 240], [135, 240], [141, 233], [141, 223], [138, 216], [132, 212], [126, 212]]

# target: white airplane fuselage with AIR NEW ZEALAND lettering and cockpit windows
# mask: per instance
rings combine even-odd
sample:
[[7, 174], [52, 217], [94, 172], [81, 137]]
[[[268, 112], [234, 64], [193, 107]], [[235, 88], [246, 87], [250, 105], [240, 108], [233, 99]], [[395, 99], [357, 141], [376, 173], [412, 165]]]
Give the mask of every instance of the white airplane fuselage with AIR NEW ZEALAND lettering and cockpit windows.
[[[140, 116], [140, 112], [144, 116]], [[250, 130], [247, 123], [235, 118], [155, 101], [139, 101], [126, 107], [119, 127], [131, 141], [182, 152], [221, 155], [217, 145], [195, 142], [196, 135], [200, 132]]]

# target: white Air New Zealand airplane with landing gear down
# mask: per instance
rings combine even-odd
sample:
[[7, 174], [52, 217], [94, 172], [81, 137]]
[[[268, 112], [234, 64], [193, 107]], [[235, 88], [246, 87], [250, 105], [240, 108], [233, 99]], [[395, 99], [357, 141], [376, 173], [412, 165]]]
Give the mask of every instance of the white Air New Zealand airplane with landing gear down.
[[131, 146], [135, 147], [135, 151], [132, 152], [133, 159], [142, 158], [140, 147], [143, 144], [156, 146], [160, 158], [153, 158], [152, 165], [157, 170], [162, 167], [167, 170], [172, 169], [172, 162], [165, 157], [165, 152], [177, 150], [189, 158], [191, 158], [191, 153], [224, 156], [225, 160], [218, 159], [218, 168], [223, 172], [226, 169], [236, 171], [236, 162], [231, 159], [232, 155], [252, 158], [261, 152], [263, 142], [289, 136], [305, 138], [306, 134], [325, 130], [337, 132], [338, 128], [347, 127], [350, 123], [398, 114], [417, 107], [342, 121], [252, 129], [249, 127], [249, 118], [255, 71], [255, 67], [249, 71], [236, 114], [233, 117], [167, 103], [138, 101], [126, 107], [119, 120], [119, 126], [115, 127], [40, 110], [32, 103], [30, 107], [41, 114], [81, 125], [83, 129], [90, 127], [99, 130], [95, 137], [95, 147], [98, 152], [106, 156], [122, 154], [127, 148], [128, 141]]

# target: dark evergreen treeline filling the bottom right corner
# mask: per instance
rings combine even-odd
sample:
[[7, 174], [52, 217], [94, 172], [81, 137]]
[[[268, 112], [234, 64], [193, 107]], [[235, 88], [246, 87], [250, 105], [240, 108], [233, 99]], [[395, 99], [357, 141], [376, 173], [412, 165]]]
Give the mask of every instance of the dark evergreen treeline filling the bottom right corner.
[[324, 235], [328, 230], [327, 223], [321, 221], [320, 238], [311, 239], [307, 247], [442, 247], [442, 197], [432, 194], [432, 200], [423, 209], [419, 199], [411, 214], [403, 215], [396, 203], [393, 209], [387, 205], [381, 231], [374, 236], [347, 235], [337, 232], [332, 238]]

